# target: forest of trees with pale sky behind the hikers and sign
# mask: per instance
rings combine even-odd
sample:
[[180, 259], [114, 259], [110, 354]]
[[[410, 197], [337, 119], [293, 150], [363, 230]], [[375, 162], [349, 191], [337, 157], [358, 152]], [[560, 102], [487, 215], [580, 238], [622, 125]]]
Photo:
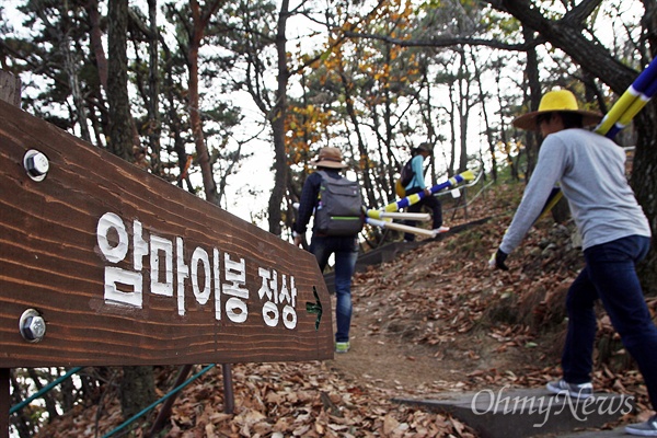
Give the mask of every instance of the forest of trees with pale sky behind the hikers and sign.
[[[541, 138], [511, 119], [555, 87], [607, 112], [655, 57], [657, 3], [10, 0], [0, 32], [23, 110], [288, 238], [323, 146], [343, 150], [369, 207], [394, 200], [419, 141], [435, 145], [434, 183], [466, 168], [495, 181], [499, 165], [526, 180]], [[636, 147], [653, 230], [656, 110], [618, 138]], [[656, 277], [652, 251], [650, 293]]]

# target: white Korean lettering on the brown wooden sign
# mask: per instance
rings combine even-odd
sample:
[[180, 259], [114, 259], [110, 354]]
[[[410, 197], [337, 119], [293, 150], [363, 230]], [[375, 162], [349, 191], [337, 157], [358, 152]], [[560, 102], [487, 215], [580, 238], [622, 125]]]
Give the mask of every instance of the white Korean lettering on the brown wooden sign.
[[[130, 235], [130, 231], [132, 235]], [[130, 242], [131, 239], [131, 242]], [[246, 262], [243, 257], [232, 258], [218, 249], [197, 246], [185, 258], [183, 238], [166, 239], [147, 232], [142, 223], [132, 220], [131, 230], [124, 220], [112, 212], [104, 214], [96, 224], [96, 241], [101, 257], [106, 262], [104, 300], [108, 304], [123, 304], [141, 309], [143, 307], [142, 270], [150, 276], [151, 293], [175, 296], [177, 313], [186, 314], [185, 283], [188, 279], [194, 299], [200, 306], [207, 304], [215, 293], [215, 319], [221, 321], [223, 312], [233, 323], [243, 323], [249, 316], [250, 290], [246, 287]], [[131, 243], [131, 246], [130, 246]], [[129, 250], [132, 254], [128, 257]], [[210, 260], [211, 257], [211, 260]], [[132, 263], [132, 267], [123, 265]], [[122, 266], [110, 266], [122, 263]], [[150, 266], [146, 266], [150, 264]], [[150, 269], [150, 273], [148, 270]], [[221, 278], [223, 270], [223, 279]], [[275, 327], [283, 322], [288, 330], [297, 326], [297, 288], [295, 277], [278, 275], [276, 269], [258, 267], [262, 279], [257, 296], [263, 301], [262, 316], [266, 326]], [[280, 284], [278, 280], [280, 279]], [[223, 303], [222, 303], [223, 301]]]

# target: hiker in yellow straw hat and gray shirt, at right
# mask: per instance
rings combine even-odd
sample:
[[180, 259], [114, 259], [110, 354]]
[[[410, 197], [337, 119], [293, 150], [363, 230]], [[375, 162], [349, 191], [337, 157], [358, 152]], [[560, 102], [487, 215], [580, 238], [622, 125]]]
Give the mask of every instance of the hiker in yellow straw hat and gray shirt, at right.
[[[593, 394], [593, 304], [600, 299], [636, 360], [655, 407], [657, 327], [636, 275], [636, 264], [650, 247], [650, 227], [627, 184], [623, 149], [609, 138], [584, 129], [601, 118], [601, 114], [579, 110], [572, 92], [557, 90], [543, 95], [538, 111], [514, 120], [518, 128], [540, 131], [544, 140], [520, 206], [489, 264], [508, 269], [507, 256], [521, 243], [558, 183], [581, 234], [586, 265], [566, 298], [568, 328], [562, 356], [563, 378], [548, 383], [548, 390], [575, 399]], [[626, 426], [625, 431], [657, 437], [657, 415]]]

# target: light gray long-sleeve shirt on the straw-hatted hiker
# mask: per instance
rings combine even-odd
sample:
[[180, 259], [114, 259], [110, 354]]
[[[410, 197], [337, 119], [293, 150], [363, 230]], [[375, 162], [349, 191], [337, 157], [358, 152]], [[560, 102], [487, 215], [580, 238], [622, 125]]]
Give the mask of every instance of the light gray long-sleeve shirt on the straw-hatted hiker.
[[555, 183], [568, 200], [583, 249], [627, 235], [650, 237], [650, 227], [625, 177], [625, 152], [585, 129], [549, 135], [522, 201], [499, 249], [511, 253], [541, 214]]

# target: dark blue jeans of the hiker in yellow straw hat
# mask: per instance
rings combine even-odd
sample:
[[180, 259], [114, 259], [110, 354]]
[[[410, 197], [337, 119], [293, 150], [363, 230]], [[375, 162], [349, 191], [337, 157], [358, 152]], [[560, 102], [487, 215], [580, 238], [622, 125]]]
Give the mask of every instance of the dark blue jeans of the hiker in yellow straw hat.
[[650, 319], [635, 269], [649, 246], [650, 239], [631, 235], [585, 250], [586, 266], [570, 285], [566, 299], [568, 333], [562, 367], [567, 382], [590, 382], [597, 328], [593, 303], [599, 298], [636, 361], [655, 407], [657, 327]]

